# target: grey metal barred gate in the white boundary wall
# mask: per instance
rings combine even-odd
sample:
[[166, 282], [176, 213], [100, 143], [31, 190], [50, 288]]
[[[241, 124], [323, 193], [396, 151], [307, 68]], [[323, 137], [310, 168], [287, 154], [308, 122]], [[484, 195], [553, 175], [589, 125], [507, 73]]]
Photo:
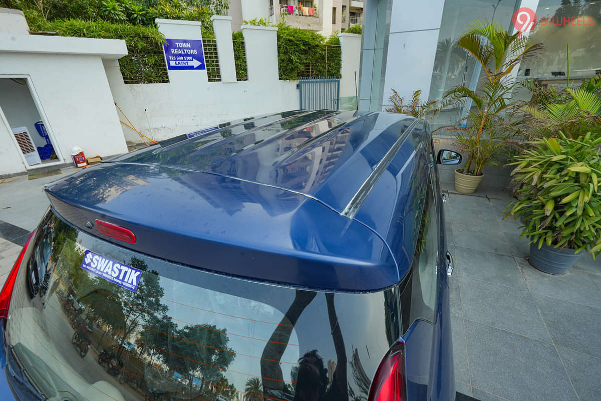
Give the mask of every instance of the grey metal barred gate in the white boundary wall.
[[299, 78], [299, 95], [303, 110], [338, 110], [340, 78], [334, 76]]

